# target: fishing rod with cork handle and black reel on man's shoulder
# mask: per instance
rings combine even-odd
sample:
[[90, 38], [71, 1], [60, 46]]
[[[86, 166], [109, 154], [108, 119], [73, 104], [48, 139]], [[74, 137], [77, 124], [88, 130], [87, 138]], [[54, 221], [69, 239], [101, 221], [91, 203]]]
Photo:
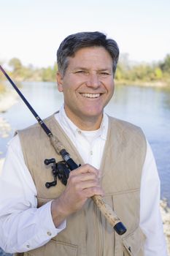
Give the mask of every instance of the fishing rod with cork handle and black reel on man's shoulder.
[[[48, 129], [44, 121], [38, 116], [34, 108], [31, 107], [27, 99], [23, 96], [23, 94], [20, 92], [18, 87], [15, 85], [15, 83], [9, 78], [9, 75], [7, 75], [7, 72], [4, 71], [4, 69], [0, 65], [1, 72], [5, 75], [7, 80], [9, 80], [9, 83], [13, 86], [15, 91], [20, 95], [21, 99], [23, 99], [23, 102], [27, 105], [28, 109], [31, 110], [31, 113], [33, 113], [34, 117], [42, 127], [42, 129], [45, 131], [47, 136], [50, 138], [50, 143], [55, 148], [55, 151], [58, 154], [61, 154], [61, 157], [63, 158], [63, 161], [66, 163], [66, 166], [69, 167], [69, 170], [75, 170], [79, 165], [77, 165], [74, 160], [70, 157], [69, 153], [66, 151], [66, 149], [63, 147], [61, 142], [56, 138], [55, 135]], [[64, 170], [66, 170], [66, 173], [64, 175], [60, 173], [60, 170], [56, 170], [55, 165], [55, 159], [45, 159], [45, 165], [49, 165], [50, 163], [53, 163], [53, 176], [55, 177], [55, 180], [53, 182], [47, 182], [46, 187], [50, 188], [51, 186], [55, 186], [57, 184], [56, 182], [56, 176], [58, 175], [58, 178], [63, 178], [63, 184], [66, 185], [66, 179], [69, 178], [68, 170], [66, 170], [66, 167], [64, 167]], [[63, 165], [62, 165], [63, 166]], [[59, 168], [60, 169], [60, 168]], [[62, 168], [61, 168], [62, 169]], [[64, 172], [64, 170], [62, 170]], [[62, 176], [63, 175], [63, 176]], [[122, 222], [120, 222], [120, 219], [117, 217], [117, 214], [115, 214], [115, 211], [112, 210], [112, 208], [104, 202], [104, 199], [101, 197], [101, 195], [93, 195], [92, 197], [94, 203], [96, 203], [96, 206], [100, 209], [101, 213], [104, 214], [104, 217], [106, 217], [109, 224], [114, 228], [114, 230], [117, 232], [118, 235], [123, 235], [126, 232], [126, 228], [123, 225]]]

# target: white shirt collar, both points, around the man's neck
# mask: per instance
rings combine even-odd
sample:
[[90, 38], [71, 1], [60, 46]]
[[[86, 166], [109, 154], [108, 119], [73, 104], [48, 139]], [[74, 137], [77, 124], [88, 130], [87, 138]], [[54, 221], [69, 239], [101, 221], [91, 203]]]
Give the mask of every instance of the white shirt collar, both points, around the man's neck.
[[[56, 114], [55, 114], [56, 115]], [[55, 116], [56, 118], [56, 116]], [[77, 135], [77, 133], [81, 133], [83, 132], [79, 127], [77, 127], [70, 119], [68, 116], [66, 116], [66, 112], [64, 110], [64, 106], [62, 105], [59, 113], [58, 113], [58, 119], [59, 122], [61, 124], [62, 127], [66, 127], [67, 129], [69, 129], [70, 132], [72, 132], [72, 134], [74, 136]], [[99, 128], [100, 132], [99, 132], [99, 136], [103, 139], [103, 140], [107, 140], [107, 129], [108, 129], [108, 121], [109, 118], [107, 116], [106, 113], [104, 113], [102, 121], [101, 121], [101, 126]]]

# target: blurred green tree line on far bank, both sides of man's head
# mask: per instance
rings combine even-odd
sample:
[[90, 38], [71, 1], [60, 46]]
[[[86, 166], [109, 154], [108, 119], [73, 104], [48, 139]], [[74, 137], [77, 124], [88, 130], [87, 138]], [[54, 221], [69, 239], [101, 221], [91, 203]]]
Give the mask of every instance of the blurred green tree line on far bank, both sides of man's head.
[[[158, 64], [136, 64], [130, 66], [128, 61], [128, 54], [120, 56], [120, 61], [117, 65], [115, 79], [125, 83], [155, 82], [155, 81], [170, 81], [170, 54]], [[15, 80], [42, 80], [42, 81], [55, 81], [57, 65], [53, 67], [35, 69], [32, 65], [28, 67], [23, 66], [20, 59], [12, 58], [9, 61], [9, 66], [12, 67], [12, 78]], [[1, 77], [0, 80], [4, 78]]]

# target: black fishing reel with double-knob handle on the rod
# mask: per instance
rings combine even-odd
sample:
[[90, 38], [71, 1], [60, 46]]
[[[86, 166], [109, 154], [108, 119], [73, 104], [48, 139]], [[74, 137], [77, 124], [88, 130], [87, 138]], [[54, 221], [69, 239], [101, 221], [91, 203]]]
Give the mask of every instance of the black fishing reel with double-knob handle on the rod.
[[53, 164], [51, 168], [52, 168], [52, 175], [53, 175], [54, 181], [46, 182], [45, 187], [49, 189], [50, 187], [56, 186], [57, 178], [59, 178], [61, 183], [66, 186], [67, 180], [69, 178], [69, 173], [70, 173], [69, 167], [68, 165], [66, 165], [66, 162], [65, 161], [56, 162], [55, 158], [45, 159], [45, 165], [50, 165], [50, 164]]

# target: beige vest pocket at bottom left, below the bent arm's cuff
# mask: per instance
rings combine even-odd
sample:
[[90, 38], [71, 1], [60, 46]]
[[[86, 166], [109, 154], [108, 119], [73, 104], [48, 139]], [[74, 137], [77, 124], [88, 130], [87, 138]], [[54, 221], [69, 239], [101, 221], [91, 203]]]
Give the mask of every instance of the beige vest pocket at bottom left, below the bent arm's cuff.
[[77, 256], [77, 249], [77, 245], [51, 240], [50, 242], [45, 244], [45, 246], [39, 247], [29, 252], [25, 252], [24, 256]]

